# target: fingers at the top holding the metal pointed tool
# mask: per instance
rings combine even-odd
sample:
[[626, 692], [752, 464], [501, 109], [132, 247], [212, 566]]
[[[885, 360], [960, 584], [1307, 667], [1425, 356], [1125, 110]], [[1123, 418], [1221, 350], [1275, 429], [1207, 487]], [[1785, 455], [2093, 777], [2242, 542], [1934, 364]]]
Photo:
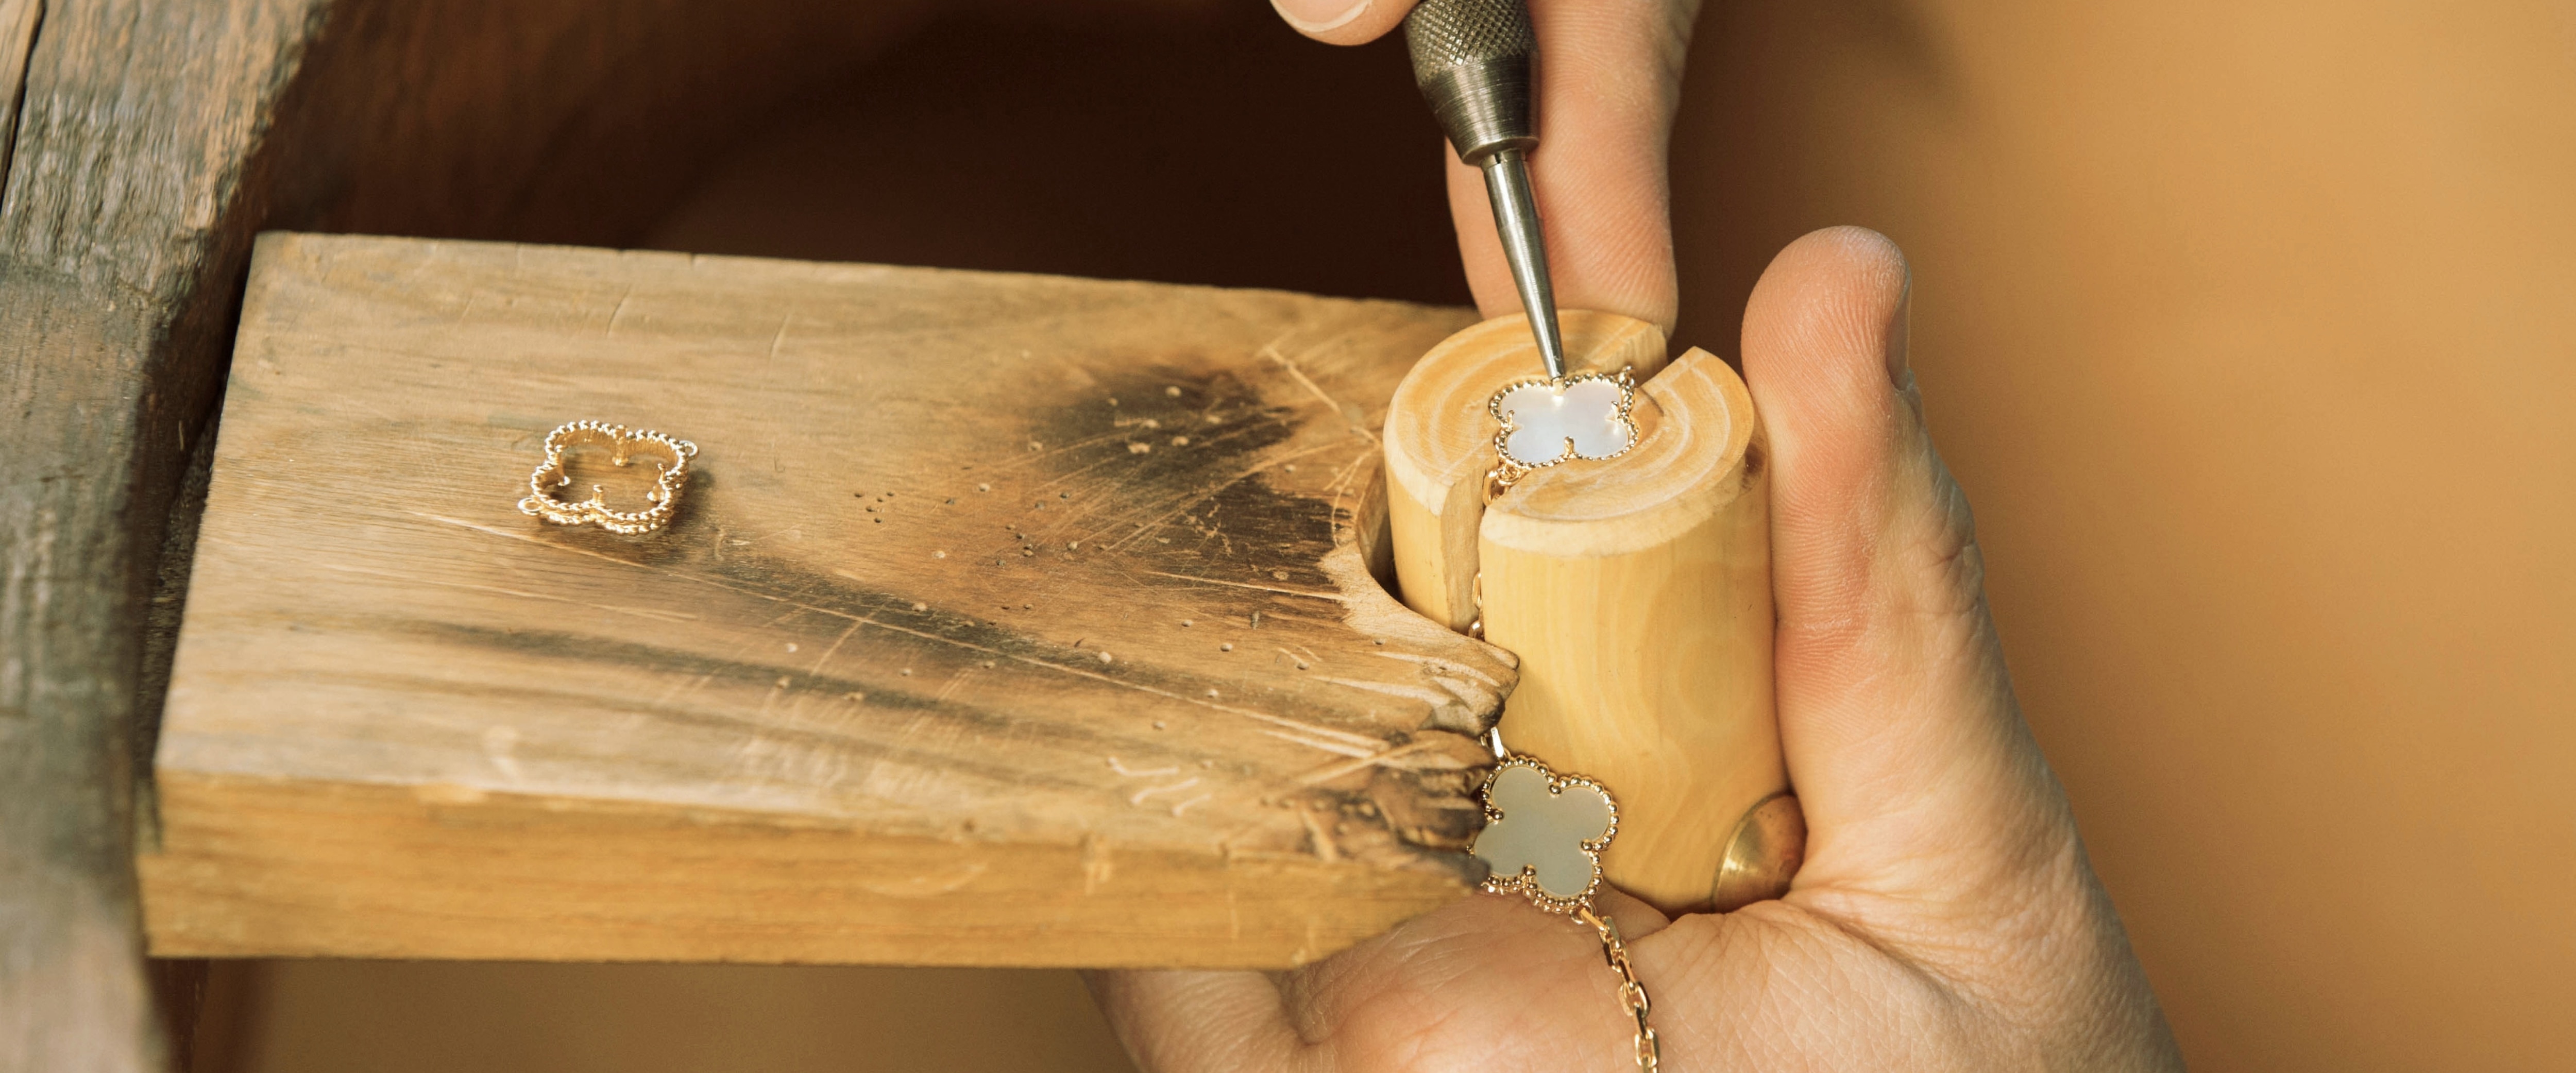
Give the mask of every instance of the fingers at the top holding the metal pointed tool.
[[[1412, 0], [1270, 0], [1316, 41], [1363, 44], [1394, 31]], [[1700, 0], [1528, 0], [1538, 31], [1538, 152], [1530, 185], [1561, 309], [1600, 309], [1672, 332], [1672, 185], [1667, 149], [1682, 54]], [[1425, 147], [1430, 149], [1430, 147]], [[1466, 280], [1486, 316], [1517, 314], [1512, 265], [1494, 237], [1484, 175], [1448, 160], [1450, 219]]]

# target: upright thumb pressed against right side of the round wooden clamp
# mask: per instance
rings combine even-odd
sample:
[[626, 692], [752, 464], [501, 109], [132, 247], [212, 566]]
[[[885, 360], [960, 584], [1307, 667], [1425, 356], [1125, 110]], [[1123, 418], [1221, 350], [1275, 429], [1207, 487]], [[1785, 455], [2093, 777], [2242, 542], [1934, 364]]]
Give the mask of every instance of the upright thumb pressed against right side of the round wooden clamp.
[[1906, 368], [1909, 273], [1857, 226], [1793, 242], [1744, 311], [1772, 445], [1780, 744], [1798, 888], [1955, 895], [2074, 847], [1984, 597], [1968, 499]]

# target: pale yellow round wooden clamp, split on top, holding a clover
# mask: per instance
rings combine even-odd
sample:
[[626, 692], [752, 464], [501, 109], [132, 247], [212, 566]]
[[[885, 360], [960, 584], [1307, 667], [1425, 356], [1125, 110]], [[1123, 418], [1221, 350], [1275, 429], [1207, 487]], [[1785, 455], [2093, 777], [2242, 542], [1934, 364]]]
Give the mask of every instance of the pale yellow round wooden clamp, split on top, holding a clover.
[[[1484, 636], [1520, 656], [1504, 741], [1618, 795], [1620, 834], [1602, 854], [1610, 883], [1664, 911], [1775, 895], [1749, 893], [1747, 862], [1728, 865], [1728, 841], [1754, 829], [1747, 813], [1788, 787], [1752, 396], [1705, 350], [1656, 371], [1651, 324], [1566, 314], [1566, 327], [1569, 342], [1584, 340], [1569, 345], [1582, 368], [1628, 365], [1641, 381], [1638, 445], [1533, 471], [1486, 504], [1484, 407], [1530, 376], [1535, 355], [1517, 319], [1445, 340], [1396, 389], [1386, 419], [1404, 602], [1463, 628], [1479, 618], [1481, 574]], [[1772, 831], [1772, 847], [1788, 841]], [[1749, 849], [1759, 847], [1739, 857]], [[1783, 877], [1795, 867], [1767, 865]]]

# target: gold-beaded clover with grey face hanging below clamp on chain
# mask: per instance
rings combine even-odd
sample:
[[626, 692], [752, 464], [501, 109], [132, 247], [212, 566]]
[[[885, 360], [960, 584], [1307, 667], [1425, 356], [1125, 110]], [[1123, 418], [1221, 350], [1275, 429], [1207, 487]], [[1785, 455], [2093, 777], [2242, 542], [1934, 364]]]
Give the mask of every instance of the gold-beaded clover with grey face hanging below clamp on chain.
[[1520, 893], [1551, 913], [1592, 903], [1602, 849], [1618, 834], [1618, 803], [1607, 787], [1512, 754], [1486, 775], [1481, 798], [1484, 831], [1468, 852], [1492, 867], [1486, 893]]

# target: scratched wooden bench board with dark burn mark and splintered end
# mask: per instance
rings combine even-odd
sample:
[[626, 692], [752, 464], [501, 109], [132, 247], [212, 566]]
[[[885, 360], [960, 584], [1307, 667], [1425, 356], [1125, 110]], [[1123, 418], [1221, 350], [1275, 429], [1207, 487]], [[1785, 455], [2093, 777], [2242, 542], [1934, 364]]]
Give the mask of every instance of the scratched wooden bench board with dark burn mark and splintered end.
[[[1365, 556], [1468, 319], [263, 237], [152, 949], [1296, 965], [1455, 898], [1512, 669]], [[515, 509], [574, 417], [698, 443], [670, 530]]]

